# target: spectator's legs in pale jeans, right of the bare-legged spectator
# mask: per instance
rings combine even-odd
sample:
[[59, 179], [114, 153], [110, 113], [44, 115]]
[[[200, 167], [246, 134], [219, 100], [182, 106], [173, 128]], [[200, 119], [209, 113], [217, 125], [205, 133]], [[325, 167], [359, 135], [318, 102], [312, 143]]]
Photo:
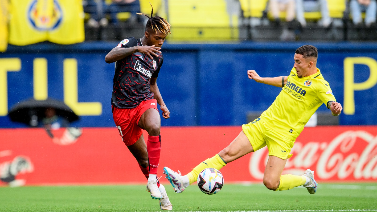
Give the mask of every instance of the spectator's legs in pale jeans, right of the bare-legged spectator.
[[297, 20], [301, 26], [307, 25], [304, 12], [321, 12], [321, 20], [318, 22], [320, 26], [328, 28], [331, 24], [331, 18], [327, 7], [327, 0], [296, 0]]

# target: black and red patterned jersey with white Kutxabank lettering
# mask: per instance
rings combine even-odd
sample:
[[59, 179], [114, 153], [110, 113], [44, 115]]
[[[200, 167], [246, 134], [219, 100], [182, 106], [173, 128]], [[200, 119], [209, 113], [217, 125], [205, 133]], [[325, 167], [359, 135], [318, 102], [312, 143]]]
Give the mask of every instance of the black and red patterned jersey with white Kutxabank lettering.
[[[143, 46], [143, 44], [140, 39], [129, 37], [116, 47], [132, 46]], [[164, 60], [162, 54], [155, 53], [159, 56], [152, 55], [153, 59], [146, 54], [136, 52], [116, 61], [112, 105], [117, 108], [135, 108], [141, 101], [154, 98], [154, 94], [150, 92], [150, 78], [158, 77]]]

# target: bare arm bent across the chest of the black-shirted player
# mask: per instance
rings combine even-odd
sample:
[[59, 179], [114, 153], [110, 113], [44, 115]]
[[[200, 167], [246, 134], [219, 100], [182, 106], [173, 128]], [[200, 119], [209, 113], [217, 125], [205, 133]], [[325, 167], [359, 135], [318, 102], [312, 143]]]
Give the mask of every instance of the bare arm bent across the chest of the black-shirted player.
[[146, 54], [148, 57], [153, 59], [153, 56], [158, 57], [159, 55], [156, 54], [156, 52], [161, 53], [159, 51], [161, 48], [153, 46], [132, 46], [129, 48], [121, 48], [121, 47], [115, 47], [113, 48], [109, 53], [107, 53], [105, 57], [106, 63], [113, 63], [115, 61], [121, 60], [129, 55], [132, 55], [136, 52], [141, 52], [143, 54]]

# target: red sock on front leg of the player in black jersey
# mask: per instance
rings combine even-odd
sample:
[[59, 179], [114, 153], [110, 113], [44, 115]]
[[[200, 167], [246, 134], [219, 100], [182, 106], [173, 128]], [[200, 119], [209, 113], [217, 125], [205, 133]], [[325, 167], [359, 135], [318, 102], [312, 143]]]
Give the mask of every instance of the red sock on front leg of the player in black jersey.
[[148, 136], [147, 152], [149, 159], [149, 174], [157, 174], [161, 152], [161, 135]]

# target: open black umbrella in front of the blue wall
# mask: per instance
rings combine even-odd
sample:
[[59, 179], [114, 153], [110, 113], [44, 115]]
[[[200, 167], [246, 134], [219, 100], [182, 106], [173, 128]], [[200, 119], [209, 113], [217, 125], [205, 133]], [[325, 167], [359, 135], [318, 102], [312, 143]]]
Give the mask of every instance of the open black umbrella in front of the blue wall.
[[33, 121], [38, 123], [45, 117], [47, 108], [54, 108], [56, 115], [66, 118], [69, 122], [78, 120], [78, 116], [63, 101], [47, 98], [46, 100], [35, 100], [34, 98], [17, 103], [8, 113], [12, 121], [25, 123], [31, 126]]

